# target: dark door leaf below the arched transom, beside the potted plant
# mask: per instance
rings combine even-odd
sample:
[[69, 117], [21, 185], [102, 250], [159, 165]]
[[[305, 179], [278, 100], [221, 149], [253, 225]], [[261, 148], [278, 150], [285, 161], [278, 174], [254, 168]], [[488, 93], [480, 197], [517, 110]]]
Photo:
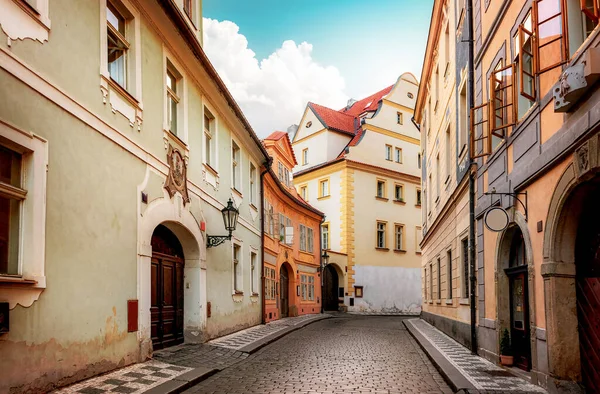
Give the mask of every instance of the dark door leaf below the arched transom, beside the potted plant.
[[510, 282], [510, 339], [515, 365], [525, 371], [531, 369], [531, 342], [529, 336], [529, 303], [527, 266], [509, 270]]

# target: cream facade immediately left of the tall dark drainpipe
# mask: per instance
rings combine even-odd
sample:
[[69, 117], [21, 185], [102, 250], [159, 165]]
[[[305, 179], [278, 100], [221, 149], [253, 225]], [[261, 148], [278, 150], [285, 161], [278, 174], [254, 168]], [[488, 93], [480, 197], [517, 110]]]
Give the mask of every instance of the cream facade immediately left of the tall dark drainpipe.
[[[464, 2], [463, 2], [464, 3]], [[415, 109], [423, 150], [422, 317], [470, 346], [466, 10], [435, 1]]]

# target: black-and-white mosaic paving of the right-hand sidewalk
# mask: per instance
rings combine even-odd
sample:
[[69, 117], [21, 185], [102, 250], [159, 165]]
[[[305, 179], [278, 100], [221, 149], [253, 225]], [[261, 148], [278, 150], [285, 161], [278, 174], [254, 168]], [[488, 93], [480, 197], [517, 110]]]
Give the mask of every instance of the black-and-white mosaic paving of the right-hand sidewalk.
[[480, 393], [546, 393], [487, 361], [421, 319], [406, 321], [419, 331]]

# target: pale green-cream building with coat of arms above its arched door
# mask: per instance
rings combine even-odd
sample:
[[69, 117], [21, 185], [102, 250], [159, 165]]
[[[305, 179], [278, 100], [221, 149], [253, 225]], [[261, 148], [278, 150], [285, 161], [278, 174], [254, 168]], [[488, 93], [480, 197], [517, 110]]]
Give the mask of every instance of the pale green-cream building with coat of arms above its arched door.
[[[0, 392], [261, 321], [266, 151], [196, 0], [0, 0]], [[221, 209], [239, 209], [231, 241]]]

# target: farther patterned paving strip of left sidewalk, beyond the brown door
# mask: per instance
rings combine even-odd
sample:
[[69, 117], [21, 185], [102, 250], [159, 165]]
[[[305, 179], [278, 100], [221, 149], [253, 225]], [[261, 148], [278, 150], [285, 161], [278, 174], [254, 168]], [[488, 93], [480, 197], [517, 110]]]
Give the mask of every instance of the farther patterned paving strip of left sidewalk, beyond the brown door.
[[322, 319], [321, 314], [302, 315], [297, 317], [288, 317], [272, 321], [267, 324], [250, 327], [245, 330], [226, 335], [221, 338], [213, 339], [208, 342], [209, 345], [220, 346], [228, 349], [239, 350], [246, 345], [256, 342], [268, 335], [285, 330], [291, 326], [297, 326], [306, 321]]

